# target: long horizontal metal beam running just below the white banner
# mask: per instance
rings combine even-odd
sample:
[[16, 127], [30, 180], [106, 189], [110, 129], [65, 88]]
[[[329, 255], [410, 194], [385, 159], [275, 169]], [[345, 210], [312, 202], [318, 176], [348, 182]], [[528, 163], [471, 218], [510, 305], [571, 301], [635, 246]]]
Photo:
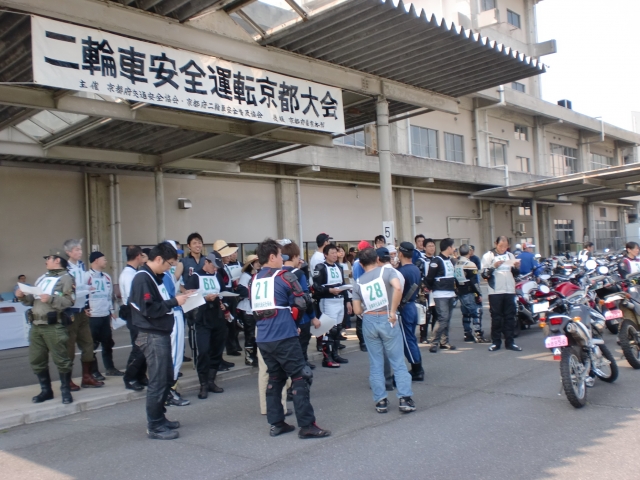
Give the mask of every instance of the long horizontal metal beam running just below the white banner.
[[[45, 90], [8, 85], [0, 85], [0, 104], [34, 107], [41, 110], [59, 110], [93, 117], [178, 127], [200, 132], [231, 134], [236, 137], [254, 137], [256, 132], [260, 133], [262, 129], [267, 128], [264, 125], [268, 125], [269, 129], [273, 128], [271, 124], [246, 123], [214, 115], [193, 114], [183, 110], [153, 107], [132, 110], [124, 103], [105, 102], [72, 95], [56, 99], [55, 95]], [[263, 133], [262, 138], [302, 145], [333, 146], [331, 134], [304, 130], [286, 130], [282, 129], [282, 127]]]

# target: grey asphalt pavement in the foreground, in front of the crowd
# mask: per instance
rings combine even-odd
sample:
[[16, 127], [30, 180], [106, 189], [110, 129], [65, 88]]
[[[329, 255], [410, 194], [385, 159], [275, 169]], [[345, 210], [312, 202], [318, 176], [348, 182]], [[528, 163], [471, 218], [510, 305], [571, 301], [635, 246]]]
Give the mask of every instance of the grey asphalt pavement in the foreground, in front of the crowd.
[[[225, 393], [170, 408], [178, 440], [145, 436], [144, 401], [12, 428], [0, 434], [6, 478], [472, 478], [637, 479], [640, 372], [619, 361], [614, 384], [596, 382], [576, 410], [558, 396], [559, 367], [538, 331], [524, 332], [516, 353], [464, 344], [455, 352], [422, 349], [425, 382], [414, 383], [418, 410], [375, 412], [368, 358], [348, 355], [337, 370], [318, 368], [312, 402], [321, 440], [271, 438], [256, 376], [223, 380]], [[605, 337], [616, 352], [615, 338]], [[293, 418], [293, 417], [290, 417]], [[292, 422], [294, 420], [292, 419]]]

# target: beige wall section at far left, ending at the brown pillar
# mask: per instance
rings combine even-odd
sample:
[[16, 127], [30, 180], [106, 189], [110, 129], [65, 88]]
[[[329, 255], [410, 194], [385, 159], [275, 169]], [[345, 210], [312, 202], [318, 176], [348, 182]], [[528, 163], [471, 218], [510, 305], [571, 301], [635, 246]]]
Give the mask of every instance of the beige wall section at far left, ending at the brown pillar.
[[0, 167], [0, 292], [17, 276], [33, 283], [45, 272], [50, 248], [86, 236], [80, 173]]

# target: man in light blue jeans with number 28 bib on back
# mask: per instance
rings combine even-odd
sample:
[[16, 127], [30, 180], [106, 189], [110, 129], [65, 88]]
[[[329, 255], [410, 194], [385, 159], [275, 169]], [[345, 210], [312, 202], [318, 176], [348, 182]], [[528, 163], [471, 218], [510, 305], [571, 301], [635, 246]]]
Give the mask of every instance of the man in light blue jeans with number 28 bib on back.
[[402, 413], [413, 412], [416, 405], [411, 398], [411, 375], [404, 363], [402, 332], [396, 312], [402, 300], [402, 288], [391, 266], [376, 265], [378, 255], [373, 248], [360, 252], [364, 274], [353, 287], [353, 309], [362, 315], [362, 330], [369, 353], [369, 384], [378, 413], [387, 413], [389, 402], [384, 382], [384, 354], [393, 368], [398, 387], [398, 408]]

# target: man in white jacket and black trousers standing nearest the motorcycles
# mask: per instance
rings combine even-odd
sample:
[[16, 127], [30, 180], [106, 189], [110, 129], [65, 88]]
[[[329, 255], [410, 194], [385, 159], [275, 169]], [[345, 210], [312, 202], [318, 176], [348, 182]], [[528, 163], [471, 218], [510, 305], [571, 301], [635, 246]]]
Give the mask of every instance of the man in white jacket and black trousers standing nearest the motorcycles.
[[522, 351], [513, 341], [516, 324], [516, 281], [520, 274], [520, 261], [508, 251], [509, 239], [500, 236], [496, 246], [482, 256], [482, 278], [489, 284], [489, 310], [491, 312], [490, 352], [500, 350], [502, 335], [508, 350]]

